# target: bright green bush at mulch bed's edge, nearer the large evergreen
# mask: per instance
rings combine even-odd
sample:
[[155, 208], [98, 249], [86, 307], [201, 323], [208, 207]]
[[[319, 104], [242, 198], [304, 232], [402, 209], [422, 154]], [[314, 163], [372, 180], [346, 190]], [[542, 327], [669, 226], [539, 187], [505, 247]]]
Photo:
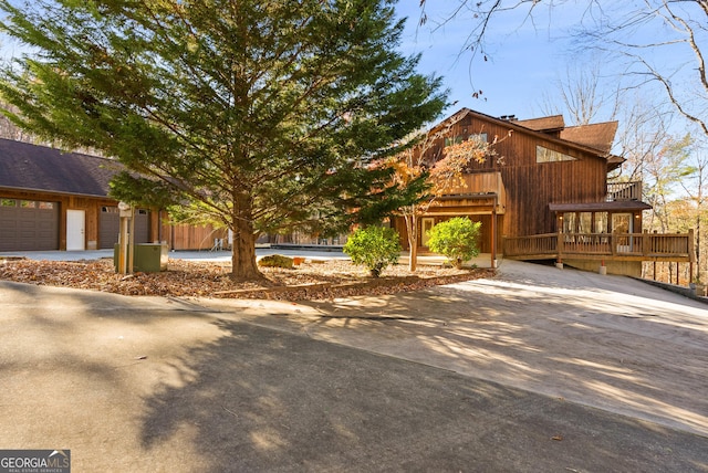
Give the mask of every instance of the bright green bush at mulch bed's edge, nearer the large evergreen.
[[344, 245], [344, 253], [350, 255], [352, 262], [366, 266], [373, 277], [378, 277], [389, 264], [398, 263], [400, 251], [398, 233], [383, 227], [360, 229]]

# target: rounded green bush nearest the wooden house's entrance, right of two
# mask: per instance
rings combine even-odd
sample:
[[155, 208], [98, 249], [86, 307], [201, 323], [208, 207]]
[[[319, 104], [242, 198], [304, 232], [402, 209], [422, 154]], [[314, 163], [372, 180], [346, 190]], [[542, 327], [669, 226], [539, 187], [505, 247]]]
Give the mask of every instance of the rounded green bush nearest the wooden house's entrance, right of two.
[[444, 254], [460, 269], [462, 262], [479, 254], [477, 240], [480, 227], [480, 222], [472, 222], [465, 217], [440, 222], [428, 232], [428, 248]]

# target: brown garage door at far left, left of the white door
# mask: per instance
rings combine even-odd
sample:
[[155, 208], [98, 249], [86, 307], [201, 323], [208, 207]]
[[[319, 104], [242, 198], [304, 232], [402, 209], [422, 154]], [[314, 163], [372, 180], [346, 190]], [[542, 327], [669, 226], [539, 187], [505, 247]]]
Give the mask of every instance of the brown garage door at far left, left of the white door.
[[59, 250], [59, 202], [0, 199], [0, 251]]

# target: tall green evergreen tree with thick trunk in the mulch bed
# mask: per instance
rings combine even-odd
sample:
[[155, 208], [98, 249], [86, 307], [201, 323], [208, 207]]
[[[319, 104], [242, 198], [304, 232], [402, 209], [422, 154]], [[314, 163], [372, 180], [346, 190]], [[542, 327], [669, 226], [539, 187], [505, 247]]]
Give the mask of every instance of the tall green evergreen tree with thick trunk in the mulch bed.
[[231, 229], [232, 276], [253, 278], [261, 232], [339, 230], [415, 196], [369, 166], [445, 105], [396, 52], [394, 3], [0, 0], [30, 51], [0, 93], [21, 127], [134, 171], [115, 197]]

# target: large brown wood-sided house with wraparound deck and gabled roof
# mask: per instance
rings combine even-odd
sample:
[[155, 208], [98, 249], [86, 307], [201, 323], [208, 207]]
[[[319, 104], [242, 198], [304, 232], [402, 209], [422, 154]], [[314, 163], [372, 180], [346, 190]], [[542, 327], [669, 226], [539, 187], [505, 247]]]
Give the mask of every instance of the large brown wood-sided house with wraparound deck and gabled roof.
[[[632, 275], [641, 275], [643, 261], [693, 262], [693, 236], [643, 232], [643, 211], [652, 207], [642, 201], [641, 182], [607, 182], [624, 162], [612, 154], [616, 129], [616, 122], [566, 127], [560, 115], [519, 120], [457, 112], [430, 130], [424, 161], [470, 137], [496, 143], [497, 156], [471, 162], [462, 182], [420, 216], [418, 251], [428, 251], [434, 224], [467, 216], [482, 223], [480, 250], [492, 261], [548, 259]], [[403, 219], [393, 224], [407, 248]]]

